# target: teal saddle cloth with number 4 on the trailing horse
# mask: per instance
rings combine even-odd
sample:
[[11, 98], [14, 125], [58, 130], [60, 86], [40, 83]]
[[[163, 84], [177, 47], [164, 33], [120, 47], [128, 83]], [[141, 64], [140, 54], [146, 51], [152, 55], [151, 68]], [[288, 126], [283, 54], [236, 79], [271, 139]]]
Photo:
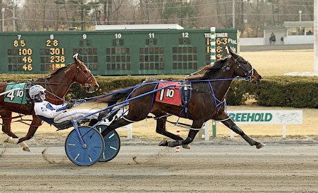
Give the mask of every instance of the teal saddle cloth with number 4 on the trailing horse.
[[[9, 91], [6, 93], [6, 96], [4, 97], [5, 102], [12, 102], [12, 103], [19, 103], [19, 104], [26, 104], [26, 97], [25, 97], [25, 91], [24, 86], [26, 83], [15, 83], [10, 82], [7, 84], [6, 91]], [[20, 89], [20, 90], [12, 90], [12, 89]]]

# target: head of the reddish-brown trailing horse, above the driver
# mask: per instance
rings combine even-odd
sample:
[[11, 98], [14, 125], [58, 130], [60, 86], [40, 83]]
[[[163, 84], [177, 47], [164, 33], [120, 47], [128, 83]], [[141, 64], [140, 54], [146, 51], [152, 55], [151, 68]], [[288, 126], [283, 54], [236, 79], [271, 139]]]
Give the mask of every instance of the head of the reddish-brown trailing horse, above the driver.
[[77, 73], [75, 75], [75, 81], [79, 82], [83, 86], [86, 87], [88, 93], [95, 92], [100, 85], [98, 85], [97, 81], [95, 80], [94, 75], [91, 71], [87, 68], [87, 66], [78, 59], [78, 53], [73, 55], [75, 60], [75, 66], [77, 68]]

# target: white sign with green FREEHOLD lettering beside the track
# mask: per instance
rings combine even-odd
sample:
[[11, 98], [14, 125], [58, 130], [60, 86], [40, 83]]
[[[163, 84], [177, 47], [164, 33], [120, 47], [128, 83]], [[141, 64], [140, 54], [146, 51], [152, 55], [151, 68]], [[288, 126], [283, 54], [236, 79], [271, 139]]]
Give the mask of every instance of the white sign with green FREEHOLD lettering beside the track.
[[227, 111], [227, 114], [239, 124], [300, 125], [303, 123], [301, 110]]

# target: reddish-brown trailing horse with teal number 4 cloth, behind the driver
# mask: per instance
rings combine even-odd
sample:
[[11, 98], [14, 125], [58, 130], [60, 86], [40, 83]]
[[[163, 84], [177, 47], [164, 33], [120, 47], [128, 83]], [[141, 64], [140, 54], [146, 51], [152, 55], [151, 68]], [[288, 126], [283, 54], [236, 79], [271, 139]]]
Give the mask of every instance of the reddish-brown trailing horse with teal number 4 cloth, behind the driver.
[[[33, 80], [30, 83], [32, 85], [40, 84], [43, 86], [46, 89], [47, 100], [53, 104], [62, 104], [64, 102], [63, 98], [68, 89], [70, 89], [71, 84], [74, 82], [79, 82], [86, 87], [88, 92], [93, 93], [98, 89], [99, 85], [97, 84], [95, 77], [91, 74], [91, 71], [88, 70], [85, 64], [81, 62], [77, 56], [78, 54], [73, 56], [75, 59], [73, 64], [68, 64], [63, 68], [59, 68], [51, 75]], [[0, 82], [0, 93], [4, 93], [7, 86], [12, 84], [15, 83]], [[28, 89], [21, 91], [19, 94], [18, 92], [10, 93], [9, 91], [9, 93], [0, 96], [0, 115], [3, 120], [2, 131], [10, 136], [7, 140], [5, 140], [5, 142], [15, 144], [19, 143], [24, 151], [30, 151], [28, 145], [24, 143], [24, 140], [29, 140], [32, 136], [34, 136], [35, 131], [37, 131], [37, 128], [41, 125], [42, 120], [38, 118], [33, 111], [33, 100], [27, 100], [26, 104], [8, 102], [8, 97], [15, 98], [17, 95], [26, 97], [26, 94], [28, 95]], [[28, 133], [22, 138], [18, 138], [11, 131], [12, 112], [23, 115], [32, 115], [32, 122]]]

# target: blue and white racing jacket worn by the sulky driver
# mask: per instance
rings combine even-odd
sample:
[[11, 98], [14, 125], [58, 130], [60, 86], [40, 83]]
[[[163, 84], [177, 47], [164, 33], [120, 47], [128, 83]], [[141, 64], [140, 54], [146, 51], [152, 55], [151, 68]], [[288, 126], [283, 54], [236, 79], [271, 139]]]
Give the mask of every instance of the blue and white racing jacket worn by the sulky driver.
[[66, 104], [50, 104], [45, 100], [35, 101], [35, 115], [45, 122], [54, 122], [54, 118], [66, 110]]

